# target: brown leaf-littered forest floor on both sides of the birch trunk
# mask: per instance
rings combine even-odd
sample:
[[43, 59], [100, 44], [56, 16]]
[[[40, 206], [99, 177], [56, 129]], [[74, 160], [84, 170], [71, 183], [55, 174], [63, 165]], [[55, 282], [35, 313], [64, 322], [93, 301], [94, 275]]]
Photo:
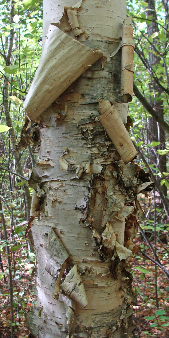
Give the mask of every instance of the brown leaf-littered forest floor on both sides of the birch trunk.
[[[150, 249], [147, 247], [147, 243], [143, 242], [141, 237], [137, 237], [135, 243], [137, 243], [142, 251], [153, 258]], [[153, 245], [153, 242], [151, 244]], [[165, 268], [169, 270], [166, 250], [166, 244], [162, 242], [156, 244], [156, 254]], [[137, 305], [134, 306], [134, 320], [137, 327], [134, 336], [137, 338], [169, 338], [169, 281], [167, 277], [159, 267], [156, 268], [155, 272], [154, 264], [140, 254], [135, 255], [131, 259], [131, 263], [133, 265], [134, 291], [137, 294]], [[6, 283], [4, 283], [3, 278], [0, 280], [0, 338], [10, 338], [10, 299], [7, 262], [5, 260], [3, 260], [3, 266], [4, 270], [6, 270]], [[19, 269], [18, 264], [17, 278], [14, 279], [14, 338], [27, 337], [28, 331], [25, 329], [24, 311], [30, 305], [36, 303], [36, 297], [30, 289], [31, 268], [32, 264], [30, 264], [30, 260], [27, 260], [24, 269]]]

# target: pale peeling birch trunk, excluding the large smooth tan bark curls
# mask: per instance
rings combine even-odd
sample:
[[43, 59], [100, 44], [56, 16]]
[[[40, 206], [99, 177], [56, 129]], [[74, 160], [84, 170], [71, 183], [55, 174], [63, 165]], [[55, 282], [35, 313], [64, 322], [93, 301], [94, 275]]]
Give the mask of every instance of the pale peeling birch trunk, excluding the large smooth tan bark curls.
[[[61, 20], [64, 34], [77, 34], [84, 46], [97, 47], [104, 56], [42, 115], [32, 116], [32, 128], [36, 125], [39, 135], [34, 137], [34, 151], [40, 161], [29, 175], [34, 188], [31, 215], [40, 213], [40, 220], [31, 226], [31, 218], [27, 233], [37, 252], [38, 306], [25, 313], [26, 324], [31, 337], [132, 337], [136, 297], [129, 257], [136, 250], [134, 198], [152, 184], [136, 164], [124, 164], [98, 119], [101, 103], [108, 100], [116, 102], [113, 107], [120, 115], [123, 111], [121, 118], [127, 121], [127, 105], [120, 103], [118, 48], [126, 4], [84, 0], [74, 5], [44, 1], [44, 41], [49, 25], [58, 26]], [[64, 72], [67, 65], [62, 67]]]

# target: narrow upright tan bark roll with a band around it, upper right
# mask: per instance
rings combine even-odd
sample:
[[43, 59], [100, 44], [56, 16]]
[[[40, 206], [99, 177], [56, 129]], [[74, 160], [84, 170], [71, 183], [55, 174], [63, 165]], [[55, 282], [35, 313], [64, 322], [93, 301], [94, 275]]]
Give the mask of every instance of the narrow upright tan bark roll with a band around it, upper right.
[[133, 95], [133, 56], [135, 48], [135, 42], [133, 40], [132, 16], [124, 20], [121, 48], [121, 93], [123, 94], [124, 102], [130, 102]]

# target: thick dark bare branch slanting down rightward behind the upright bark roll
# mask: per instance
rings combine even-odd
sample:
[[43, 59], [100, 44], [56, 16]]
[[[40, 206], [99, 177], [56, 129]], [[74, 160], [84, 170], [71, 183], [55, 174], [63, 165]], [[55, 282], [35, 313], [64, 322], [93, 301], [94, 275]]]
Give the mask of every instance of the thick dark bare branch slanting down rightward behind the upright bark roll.
[[133, 91], [138, 100], [142, 103], [143, 107], [147, 110], [147, 112], [155, 119], [155, 121], [157, 121], [163, 127], [163, 129], [169, 135], [168, 123], [165, 122], [164, 119], [160, 117], [158, 113], [151, 107], [146, 98], [140, 93], [135, 83], [133, 83]]

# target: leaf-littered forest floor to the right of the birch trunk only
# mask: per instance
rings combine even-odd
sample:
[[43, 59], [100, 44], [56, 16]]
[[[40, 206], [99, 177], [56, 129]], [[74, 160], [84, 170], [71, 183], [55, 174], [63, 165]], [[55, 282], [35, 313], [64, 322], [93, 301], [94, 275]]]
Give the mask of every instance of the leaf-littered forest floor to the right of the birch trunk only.
[[[135, 242], [142, 251], [144, 249], [148, 256], [154, 258], [146, 242], [139, 241], [139, 238]], [[169, 270], [166, 249], [167, 244], [156, 244], [156, 254], [161, 264]], [[134, 320], [137, 323], [135, 337], [169, 338], [169, 281], [166, 275], [161, 268], [155, 268], [151, 261], [139, 254], [132, 259], [132, 266], [137, 294], [137, 305], [134, 306]]]

